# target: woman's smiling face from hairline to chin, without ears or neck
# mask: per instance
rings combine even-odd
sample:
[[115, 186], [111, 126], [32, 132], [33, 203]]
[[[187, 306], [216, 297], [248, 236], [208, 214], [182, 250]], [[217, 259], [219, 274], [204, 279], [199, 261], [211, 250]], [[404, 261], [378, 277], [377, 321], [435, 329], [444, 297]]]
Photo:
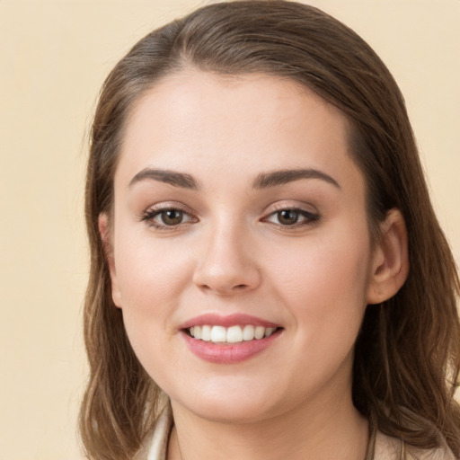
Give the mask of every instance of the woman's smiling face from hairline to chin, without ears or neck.
[[131, 112], [114, 187], [113, 298], [174, 409], [350, 400], [373, 252], [340, 111], [272, 76], [182, 71]]

